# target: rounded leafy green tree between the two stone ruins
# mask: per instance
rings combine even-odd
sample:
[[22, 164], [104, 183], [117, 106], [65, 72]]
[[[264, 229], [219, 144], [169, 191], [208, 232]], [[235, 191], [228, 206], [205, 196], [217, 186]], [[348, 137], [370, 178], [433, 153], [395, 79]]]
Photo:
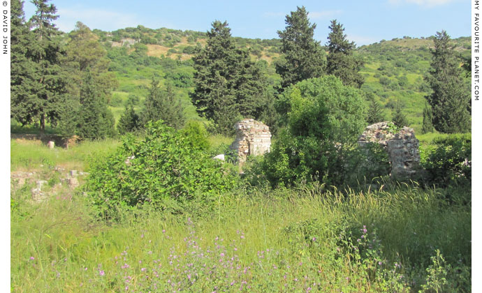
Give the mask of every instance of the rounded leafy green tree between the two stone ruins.
[[265, 155], [261, 170], [272, 186], [320, 179], [346, 183], [358, 164], [356, 140], [365, 127], [360, 91], [328, 75], [284, 92], [289, 131]]

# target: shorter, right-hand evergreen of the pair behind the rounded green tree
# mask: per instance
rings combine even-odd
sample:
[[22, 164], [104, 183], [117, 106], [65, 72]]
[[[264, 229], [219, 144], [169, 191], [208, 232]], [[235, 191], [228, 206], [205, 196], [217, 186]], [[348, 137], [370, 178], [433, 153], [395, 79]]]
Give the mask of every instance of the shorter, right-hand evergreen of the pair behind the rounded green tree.
[[343, 25], [332, 20], [328, 35], [328, 57], [326, 57], [326, 73], [335, 75], [344, 85], [360, 88], [363, 76], [358, 73], [363, 61], [353, 56], [356, 45], [350, 42], [344, 34]]

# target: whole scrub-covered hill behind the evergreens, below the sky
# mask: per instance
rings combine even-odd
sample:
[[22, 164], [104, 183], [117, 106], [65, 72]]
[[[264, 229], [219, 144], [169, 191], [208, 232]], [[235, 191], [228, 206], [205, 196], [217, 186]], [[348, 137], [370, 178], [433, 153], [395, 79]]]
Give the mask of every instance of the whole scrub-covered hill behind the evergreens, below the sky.
[[[99, 41], [108, 50], [111, 61], [109, 70], [115, 73], [119, 87], [114, 91], [110, 108], [116, 119], [124, 110], [127, 100], [135, 101], [138, 107], [147, 96], [152, 77], [170, 80], [184, 106], [187, 118], [196, 118], [188, 93], [193, 89], [193, 63], [196, 50], [206, 43], [207, 34], [198, 31], [175, 29], [148, 29], [143, 26], [106, 32], [93, 30]], [[430, 68], [433, 40], [427, 38], [394, 38], [381, 40], [372, 45], [363, 45], [355, 54], [363, 57], [365, 65], [360, 73], [365, 77], [363, 91], [372, 92], [384, 106], [384, 116], [390, 120], [397, 103], [401, 103], [407, 114], [409, 126], [421, 131], [424, 96], [430, 87], [423, 80]], [[265, 61], [266, 73], [271, 84], [279, 76], [275, 73], [275, 62], [280, 56], [280, 39], [261, 40], [234, 38], [240, 47], [249, 47], [254, 60]], [[455, 51], [462, 58], [470, 57], [470, 38], [451, 40]], [[322, 42], [321, 45], [324, 45]]]

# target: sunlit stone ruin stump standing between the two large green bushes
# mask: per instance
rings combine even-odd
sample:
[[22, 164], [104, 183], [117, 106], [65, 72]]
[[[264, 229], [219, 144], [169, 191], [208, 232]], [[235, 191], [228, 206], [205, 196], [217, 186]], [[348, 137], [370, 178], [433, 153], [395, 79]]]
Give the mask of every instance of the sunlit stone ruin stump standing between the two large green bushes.
[[259, 156], [270, 152], [270, 128], [254, 119], [244, 119], [235, 124], [236, 139], [231, 149], [238, 152], [238, 160], [242, 164], [247, 156]]

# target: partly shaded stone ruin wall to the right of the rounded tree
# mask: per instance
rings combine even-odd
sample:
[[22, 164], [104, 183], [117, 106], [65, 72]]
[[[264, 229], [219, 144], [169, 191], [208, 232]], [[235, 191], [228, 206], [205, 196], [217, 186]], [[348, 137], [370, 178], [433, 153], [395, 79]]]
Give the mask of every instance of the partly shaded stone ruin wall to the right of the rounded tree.
[[360, 147], [369, 142], [377, 142], [384, 147], [393, 176], [407, 178], [416, 174], [420, 153], [413, 128], [404, 127], [398, 133], [391, 133], [389, 122], [375, 123], [367, 126], [358, 139]]

